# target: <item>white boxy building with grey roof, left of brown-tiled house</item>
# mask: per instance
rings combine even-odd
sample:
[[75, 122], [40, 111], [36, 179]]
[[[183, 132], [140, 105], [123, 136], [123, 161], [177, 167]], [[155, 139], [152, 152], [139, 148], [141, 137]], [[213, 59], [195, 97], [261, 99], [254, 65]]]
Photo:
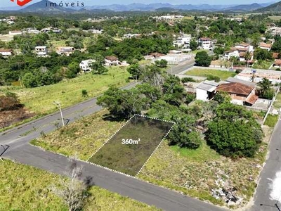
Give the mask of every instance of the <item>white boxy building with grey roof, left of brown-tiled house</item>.
[[208, 80], [201, 82], [196, 87], [196, 99], [201, 101], [210, 101], [216, 94], [216, 87], [218, 87], [217, 82]]

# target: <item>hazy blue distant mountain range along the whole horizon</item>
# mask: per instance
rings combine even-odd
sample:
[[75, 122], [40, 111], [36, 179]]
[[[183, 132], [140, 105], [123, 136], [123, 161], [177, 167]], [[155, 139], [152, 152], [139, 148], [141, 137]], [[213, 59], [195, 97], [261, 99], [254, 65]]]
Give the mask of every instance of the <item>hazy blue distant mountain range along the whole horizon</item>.
[[[20, 12], [28, 13], [84, 13], [94, 11], [209, 11], [209, 12], [247, 12], [247, 11], [281, 11], [281, 1], [273, 4], [274, 2], [265, 4], [242, 4], [242, 5], [192, 5], [192, 4], [112, 4], [108, 6], [85, 6], [83, 8], [76, 7], [65, 8], [60, 6], [49, 6], [51, 1], [42, 0], [37, 3], [20, 8]], [[46, 4], [48, 6], [46, 6]], [[1, 11], [15, 11], [13, 8], [0, 8]]]

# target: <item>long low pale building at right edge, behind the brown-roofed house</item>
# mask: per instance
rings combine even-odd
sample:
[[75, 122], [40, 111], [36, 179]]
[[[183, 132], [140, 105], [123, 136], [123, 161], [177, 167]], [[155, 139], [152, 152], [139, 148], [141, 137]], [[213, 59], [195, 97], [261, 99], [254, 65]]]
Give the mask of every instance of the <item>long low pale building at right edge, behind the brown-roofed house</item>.
[[244, 69], [238, 75], [235, 75], [235, 78], [255, 83], [261, 82], [263, 78], [267, 78], [273, 84], [279, 84], [281, 83], [281, 71]]

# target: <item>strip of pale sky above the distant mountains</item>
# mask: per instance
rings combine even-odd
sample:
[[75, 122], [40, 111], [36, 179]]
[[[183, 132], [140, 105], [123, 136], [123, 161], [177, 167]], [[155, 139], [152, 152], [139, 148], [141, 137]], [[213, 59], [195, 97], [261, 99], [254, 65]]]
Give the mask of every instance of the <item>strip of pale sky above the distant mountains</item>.
[[[15, 2], [11, 2], [10, 0], [0, 0], [1, 7], [5, 6], [16, 6]], [[15, 0], [16, 1], [16, 0]], [[30, 2], [36, 3], [41, 0], [33, 0]], [[235, 1], [228, 1], [228, 0], [63, 0], [63, 2], [84, 2], [86, 6], [92, 5], [110, 5], [110, 4], [132, 4], [132, 3], [141, 3], [141, 4], [152, 4], [152, 3], [169, 3], [169, 4], [253, 4], [253, 3], [268, 3], [268, 2], [277, 2], [277, 0], [235, 0]], [[53, 2], [60, 3], [58, 0], [53, 0]]]

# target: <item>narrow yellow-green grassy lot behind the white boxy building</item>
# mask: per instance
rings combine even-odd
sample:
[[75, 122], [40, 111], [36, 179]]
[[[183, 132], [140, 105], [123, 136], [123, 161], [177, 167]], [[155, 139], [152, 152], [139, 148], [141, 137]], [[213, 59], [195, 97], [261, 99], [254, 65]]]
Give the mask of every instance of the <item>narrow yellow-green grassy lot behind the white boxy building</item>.
[[220, 79], [224, 80], [228, 77], [235, 76], [234, 72], [228, 72], [228, 71], [222, 71], [222, 70], [209, 70], [209, 69], [201, 69], [201, 68], [195, 68], [192, 70], [189, 70], [188, 72], [185, 72], [185, 75], [195, 75], [195, 76], [201, 76], [201, 77], [208, 77], [208, 75], [217, 76]]

